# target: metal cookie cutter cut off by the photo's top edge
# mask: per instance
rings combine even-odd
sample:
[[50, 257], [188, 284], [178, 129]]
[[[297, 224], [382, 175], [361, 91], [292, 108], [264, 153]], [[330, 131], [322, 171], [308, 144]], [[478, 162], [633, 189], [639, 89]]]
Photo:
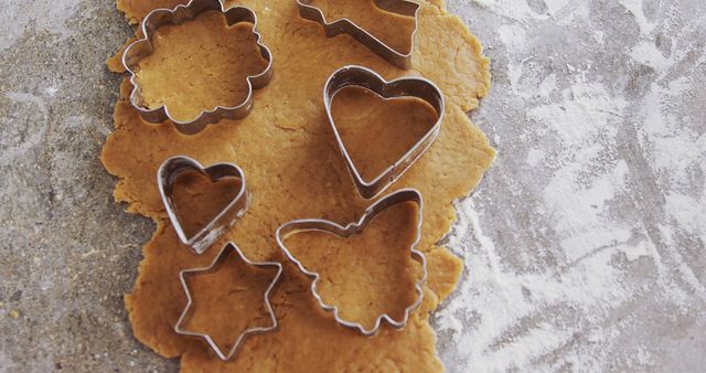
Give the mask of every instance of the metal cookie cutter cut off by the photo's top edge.
[[311, 0], [297, 0], [297, 6], [299, 7], [299, 15], [306, 20], [321, 24], [327, 36], [333, 38], [335, 35], [346, 33], [393, 65], [408, 70], [411, 65], [414, 40], [417, 33], [417, 13], [419, 12], [420, 7], [416, 2], [405, 0], [374, 1], [375, 6], [384, 11], [415, 18], [415, 28], [411, 32], [413, 43], [409, 53], [400, 53], [399, 51], [396, 51], [347, 18], [338, 19], [330, 23], [327, 21], [320, 8], [311, 6]]

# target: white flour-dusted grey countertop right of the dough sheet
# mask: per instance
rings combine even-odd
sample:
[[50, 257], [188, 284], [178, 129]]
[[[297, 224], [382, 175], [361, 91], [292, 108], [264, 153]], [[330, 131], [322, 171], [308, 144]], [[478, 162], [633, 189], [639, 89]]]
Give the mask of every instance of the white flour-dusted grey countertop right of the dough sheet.
[[448, 241], [466, 265], [435, 315], [449, 371], [703, 367], [703, 6], [450, 3], [493, 60], [474, 119], [499, 154]]

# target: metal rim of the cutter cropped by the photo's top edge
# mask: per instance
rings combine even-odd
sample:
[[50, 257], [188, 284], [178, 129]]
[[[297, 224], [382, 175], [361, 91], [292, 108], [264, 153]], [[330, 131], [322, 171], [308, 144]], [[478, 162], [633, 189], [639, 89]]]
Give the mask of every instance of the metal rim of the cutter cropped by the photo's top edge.
[[[397, 51], [396, 49], [387, 45], [387, 43], [383, 42], [377, 36], [373, 35], [367, 30], [365, 30], [363, 26], [359, 25], [357, 23], [355, 23], [354, 21], [352, 21], [347, 17], [339, 18], [339, 19], [333, 20], [332, 22], [329, 22], [329, 20], [327, 19], [325, 14], [321, 10], [321, 8], [310, 4], [309, 3], [310, 1], [308, 2], [306, 0], [297, 0], [297, 6], [299, 7], [299, 15], [301, 18], [306, 19], [306, 20], [313, 21], [313, 22], [317, 22], [317, 23], [321, 24], [323, 26], [328, 38], [335, 36], [335, 35], [338, 35], [340, 33], [349, 34], [352, 38], [354, 38], [355, 40], [357, 40], [360, 43], [365, 45], [373, 53], [377, 54], [379, 57], [382, 57], [383, 60], [387, 61], [388, 63], [391, 63], [391, 64], [393, 64], [393, 65], [395, 65], [395, 66], [397, 66], [399, 68], [403, 68], [403, 70], [409, 70], [411, 67], [411, 56], [414, 55], [414, 52], [415, 52], [415, 40], [416, 40], [416, 36], [417, 36], [417, 31], [419, 29], [419, 11], [421, 10], [421, 4], [416, 2], [416, 1], [408, 1], [408, 0], [399, 0], [399, 1], [404, 2], [404, 3], [407, 3], [407, 4], [411, 4], [413, 7], [416, 7], [416, 9], [414, 11], [414, 15], [400, 14], [400, 13], [393, 12], [391, 10], [386, 10], [386, 9], [379, 8], [379, 6], [377, 4], [377, 0], [374, 0], [374, 3], [375, 3], [375, 7], [377, 7], [378, 9], [381, 9], [383, 11], [387, 11], [387, 12], [391, 12], [393, 14], [398, 14], [398, 15], [404, 15], [404, 17], [413, 17], [414, 18], [415, 25], [414, 25], [414, 29], [411, 30], [411, 35], [409, 36], [411, 42], [410, 42], [410, 45], [409, 45], [409, 52], [408, 53], [402, 53], [402, 52]], [[315, 12], [315, 15], [318, 17], [318, 19], [302, 14], [302, 9]], [[368, 39], [368, 41], [360, 40], [355, 35], [353, 35], [351, 32], [342, 30], [339, 26], [339, 23], [346, 24], [346, 25], [353, 28], [354, 30], [361, 32], [362, 34], [364, 34]], [[329, 33], [331, 33], [331, 35], [329, 35]], [[381, 49], [382, 52], [381, 51], [376, 51], [376, 49]]]

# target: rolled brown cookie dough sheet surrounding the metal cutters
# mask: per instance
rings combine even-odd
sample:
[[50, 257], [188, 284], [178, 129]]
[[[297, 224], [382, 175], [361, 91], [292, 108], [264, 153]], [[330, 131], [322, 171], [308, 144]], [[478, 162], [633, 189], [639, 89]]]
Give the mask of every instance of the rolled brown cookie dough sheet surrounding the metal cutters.
[[[118, 1], [131, 21], [139, 21], [152, 8], [176, 3]], [[347, 35], [325, 38], [318, 24], [299, 18], [295, 1], [237, 3], [256, 11], [263, 41], [272, 51], [275, 64], [272, 81], [255, 92], [255, 108], [246, 119], [223, 121], [196, 136], [183, 136], [170, 124], [142, 121], [127, 100], [130, 88], [127, 82], [115, 107], [115, 131], [106, 140], [101, 159], [106, 169], [120, 180], [116, 200], [127, 202], [130, 212], [158, 223], [157, 232], [143, 248], [145, 259], [135, 288], [125, 301], [136, 338], [165, 358], [181, 356], [184, 372], [441, 370], [428, 313], [453, 290], [462, 264], [435, 243], [456, 221], [452, 202], [470, 193], [494, 157], [485, 136], [466, 114], [477, 107], [478, 98], [490, 86], [489, 61], [482, 56], [480, 44], [458, 18], [447, 14], [442, 2], [422, 2], [413, 70], [402, 72]], [[355, 8], [360, 13], [352, 18], [370, 17], [375, 11], [367, 2], [361, 2], [360, 7]], [[389, 35], [398, 32], [392, 26], [385, 30]], [[371, 203], [357, 196], [323, 110], [323, 84], [333, 71], [346, 64], [371, 67], [388, 79], [409, 74], [425, 76], [437, 83], [447, 98], [447, 114], [437, 142], [392, 189], [414, 186], [425, 196], [419, 245], [429, 259], [425, 302], [413, 313], [405, 330], [384, 328], [375, 338], [361, 337], [338, 327], [329, 313], [322, 312], [309, 294], [308, 280], [288, 265], [274, 295], [281, 322], [279, 332], [248, 339], [233, 363], [223, 363], [201, 341], [172, 331], [185, 303], [176, 276], [181, 269], [210, 264], [226, 241], [236, 242], [252, 259], [285, 262], [274, 239], [281, 223], [317, 216], [346, 223], [359, 217]], [[117, 58], [109, 61], [109, 66], [121, 71]], [[169, 76], [164, 72], [164, 78]], [[345, 105], [343, 100], [339, 104]], [[394, 137], [388, 141], [414, 140], [415, 131], [403, 128], [409, 120], [397, 120], [393, 116], [394, 106], [375, 109], [381, 110], [382, 118], [388, 118], [386, 125], [402, 126], [392, 131]], [[353, 136], [350, 141], [363, 147], [359, 141], [371, 139]], [[374, 148], [378, 162], [392, 162], [398, 157], [398, 147]], [[193, 157], [203, 164], [235, 162], [245, 170], [253, 192], [250, 209], [243, 220], [200, 257], [180, 246], [156, 185], [157, 168], [175, 154]], [[371, 226], [374, 230], [371, 234], [382, 228], [385, 224]], [[392, 266], [393, 271], [385, 274], [400, 276], [395, 270], [402, 269], [395, 268], [409, 267]], [[366, 286], [385, 289], [384, 279], [385, 276], [372, 276]], [[375, 299], [373, 310], [395, 308], [399, 302], [396, 298]]]

